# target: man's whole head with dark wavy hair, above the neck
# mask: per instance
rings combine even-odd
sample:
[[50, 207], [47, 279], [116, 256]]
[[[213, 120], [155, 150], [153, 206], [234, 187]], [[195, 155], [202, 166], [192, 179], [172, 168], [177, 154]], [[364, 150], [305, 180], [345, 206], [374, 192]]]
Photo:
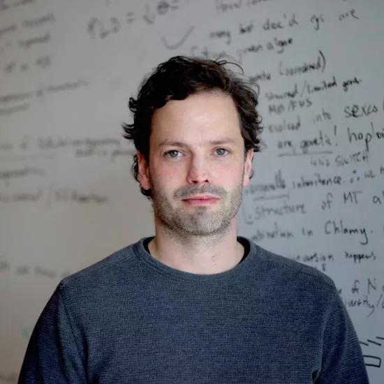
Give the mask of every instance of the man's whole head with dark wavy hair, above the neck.
[[[226, 61], [173, 57], [130, 98], [125, 138], [133, 175], [163, 226], [191, 235], [221, 232], [239, 209], [262, 128], [256, 93]], [[210, 195], [201, 204], [187, 198]]]

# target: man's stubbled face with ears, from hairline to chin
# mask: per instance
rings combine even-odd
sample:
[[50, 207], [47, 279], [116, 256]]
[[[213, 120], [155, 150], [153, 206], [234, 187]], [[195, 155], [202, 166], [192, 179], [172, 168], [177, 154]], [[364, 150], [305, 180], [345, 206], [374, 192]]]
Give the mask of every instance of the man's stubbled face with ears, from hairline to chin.
[[[154, 112], [149, 167], [139, 156], [143, 188], [152, 189], [154, 212], [180, 235], [224, 232], [249, 184], [253, 150], [244, 162], [244, 139], [232, 98], [194, 94]], [[190, 200], [198, 195], [214, 200]]]

